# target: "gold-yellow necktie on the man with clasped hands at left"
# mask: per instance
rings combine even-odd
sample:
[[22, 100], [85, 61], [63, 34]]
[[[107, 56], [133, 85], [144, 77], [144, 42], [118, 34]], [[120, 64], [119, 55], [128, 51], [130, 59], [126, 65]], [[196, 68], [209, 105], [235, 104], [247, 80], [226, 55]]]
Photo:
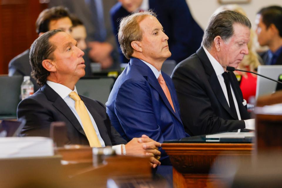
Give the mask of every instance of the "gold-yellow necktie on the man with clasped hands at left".
[[69, 96], [75, 101], [75, 110], [80, 117], [90, 147], [102, 147], [83, 101], [74, 91]]

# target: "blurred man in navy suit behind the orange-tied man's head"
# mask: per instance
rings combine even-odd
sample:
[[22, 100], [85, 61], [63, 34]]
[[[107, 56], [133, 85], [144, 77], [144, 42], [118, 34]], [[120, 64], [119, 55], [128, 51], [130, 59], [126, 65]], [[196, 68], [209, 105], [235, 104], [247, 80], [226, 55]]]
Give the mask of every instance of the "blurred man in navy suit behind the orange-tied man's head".
[[[110, 11], [113, 32], [117, 36], [120, 19], [132, 12], [152, 9], [164, 27], [172, 56], [177, 63], [189, 57], [201, 46], [203, 30], [193, 19], [185, 0], [119, 0]], [[128, 63], [121, 55], [121, 62]]]

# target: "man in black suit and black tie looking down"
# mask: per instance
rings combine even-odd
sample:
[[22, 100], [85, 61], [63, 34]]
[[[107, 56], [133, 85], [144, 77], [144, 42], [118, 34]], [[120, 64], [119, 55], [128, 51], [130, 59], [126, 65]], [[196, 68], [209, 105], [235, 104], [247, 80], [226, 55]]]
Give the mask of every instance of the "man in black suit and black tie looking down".
[[234, 11], [212, 16], [202, 47], [172, 74], [180, 114], [189, 135], [254, 128], [238, 81], [226, 67], [248, 54], [250, 21]]

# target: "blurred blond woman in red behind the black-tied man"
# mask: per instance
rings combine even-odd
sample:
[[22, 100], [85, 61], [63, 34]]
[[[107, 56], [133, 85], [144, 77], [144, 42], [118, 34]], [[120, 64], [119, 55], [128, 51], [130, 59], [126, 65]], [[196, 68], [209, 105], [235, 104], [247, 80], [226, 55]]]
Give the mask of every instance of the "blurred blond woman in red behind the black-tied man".
[[[220, 6], [214, 14], [217, 14], [221, 11], [226, 11], [226, 10], [231, 10], [231, 11], [236, 11], [244, 16], [246, 15], [246, 12], [244, 9], [237, 5], [237, 4], [228, 4], [228, 5], [223, 5]], [[251, 35], [250, 35], [250, 41], [248, 43], [248, 50], [249, 54], [245, 55], [243, 60], [239, 63], [233, 63], [230, 64], [229, 66], [232, 66], [234, 68], [238, 68], [241, 70], [248, 70], [248, 71], [257, 71], [258, 66], [262, 63], [262, 59], [260, 56], [256, 53], [255, 47], [254, 47], [254, 41], [256, 40], [256, 33], [254, 32], [253, 29], [250, 30]], [[257, 76], [252, 73], [245, 73], [245, 72], [240, 72], [240, 71], [235, 71], [234, 72], [239, 83], [240, 83], [240, 88], [243, 93], [243, 98], [247, 100], [247, 103], [249, 103], [249, 98], [251, 96], [256, 96], [256, 80]]]

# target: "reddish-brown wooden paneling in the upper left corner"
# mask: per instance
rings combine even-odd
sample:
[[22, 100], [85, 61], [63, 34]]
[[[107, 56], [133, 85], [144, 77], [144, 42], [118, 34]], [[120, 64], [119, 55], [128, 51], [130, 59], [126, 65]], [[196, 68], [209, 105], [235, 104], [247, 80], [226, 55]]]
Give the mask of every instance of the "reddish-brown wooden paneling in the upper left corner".
[[0, 0], [0, 74], [37, 38], [35, 22], [46, 7], [39, 0]]

